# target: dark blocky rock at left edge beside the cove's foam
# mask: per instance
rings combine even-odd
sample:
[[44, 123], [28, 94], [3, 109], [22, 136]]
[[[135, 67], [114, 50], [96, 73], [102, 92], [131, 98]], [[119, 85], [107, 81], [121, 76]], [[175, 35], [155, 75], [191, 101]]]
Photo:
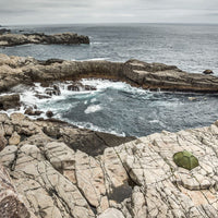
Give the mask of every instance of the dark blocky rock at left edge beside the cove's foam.
[[19, 108], [20, 106], [21, 102], [19, 94], [0, 96], [0, 110]]

